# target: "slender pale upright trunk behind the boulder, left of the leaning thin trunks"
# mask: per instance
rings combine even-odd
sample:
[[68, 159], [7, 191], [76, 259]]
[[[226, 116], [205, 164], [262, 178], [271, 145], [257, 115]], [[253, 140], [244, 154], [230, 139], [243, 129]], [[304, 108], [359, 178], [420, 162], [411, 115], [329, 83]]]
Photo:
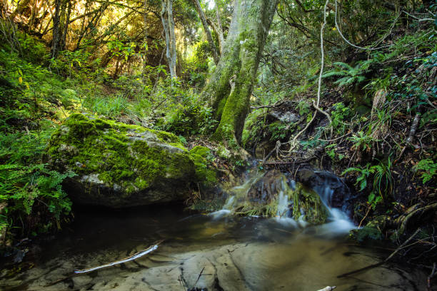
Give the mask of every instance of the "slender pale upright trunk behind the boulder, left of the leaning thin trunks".
[[162, 0], [161, 21], [166, 37], [166, 56], [169, 62], [170, 76], [174, 80], [176, 75], [176, 35], [174, 34], [173, 0]]

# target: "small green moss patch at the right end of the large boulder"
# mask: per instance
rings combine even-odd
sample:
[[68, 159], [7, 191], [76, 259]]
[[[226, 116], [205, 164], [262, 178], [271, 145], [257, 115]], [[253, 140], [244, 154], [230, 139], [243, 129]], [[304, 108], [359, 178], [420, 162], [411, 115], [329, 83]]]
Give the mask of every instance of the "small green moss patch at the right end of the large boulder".
[[211, 150], [204, 146], [196, 146], [190, 150], [191, 160], [196, 169], [196, 178], [206, 187], [211, 187], [217, 183], [216, 171], [209, 168]]

